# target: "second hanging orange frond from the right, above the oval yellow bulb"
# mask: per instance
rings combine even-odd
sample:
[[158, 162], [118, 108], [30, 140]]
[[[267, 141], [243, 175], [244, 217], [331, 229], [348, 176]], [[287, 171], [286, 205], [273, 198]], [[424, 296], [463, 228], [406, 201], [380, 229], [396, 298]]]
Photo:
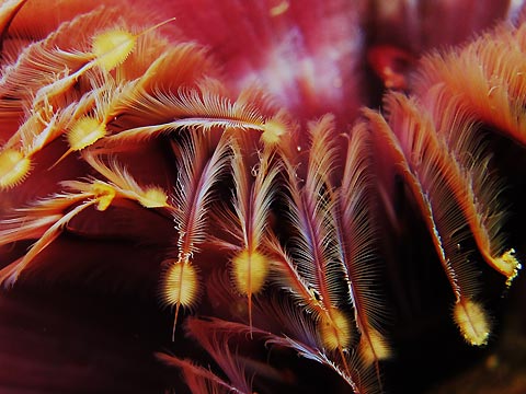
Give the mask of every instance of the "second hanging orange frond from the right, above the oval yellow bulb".
[[[389, 113], [389, 124], [420, 185], [421, 192], [415, 193], [416, 201], [421, 206], [422, 215], [427, 222], [441, 262], [455, 292], [455, 308], [461, 308], [469, 313], [473, 309], [465, 306], [476, 302], [479, 281], [477, 268], [469, 259], [472, 251], [462, 250], [465, 241], [469, 237], [469, 224], [466, 223], [466, 216], [455, 195], [455, 187], [464, 186], [466, 179], [456, 179], [457, 184], [451, 184], [451, 179], [455, 181], [455, 162], [444, 160], [443, 154], [447, 152], [447, 147], [436, 139], [431, 120], [426, 114], [416, 111], [414, 101], [400, 94], [391, 94], [386, 97], [386, 107]], [[474, 318], [469, 316], [464, 321], [465, 324], [473, 322], [470, 317]], [[466, 331], [466, 326], [461, 324], [459, 327], [462, 333], [473, 332]], [[487, 331], [484, 340], [480, 340], [479, 337], [471, 343], [482, 345], [489, 334]]]

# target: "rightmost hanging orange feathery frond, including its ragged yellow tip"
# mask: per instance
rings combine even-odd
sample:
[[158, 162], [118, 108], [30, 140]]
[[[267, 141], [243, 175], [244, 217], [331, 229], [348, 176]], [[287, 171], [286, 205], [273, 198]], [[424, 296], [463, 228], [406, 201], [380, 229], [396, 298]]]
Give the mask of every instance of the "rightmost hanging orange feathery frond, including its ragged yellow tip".
[[503, 232], [507, 216], [505, 184], [493, 169], [484, 136], [473, 114], [450, 96], [443, 86], [434, 86], [422, 97], [439, 139], [447, 143], [446, 157], [453, 169], [449, 184], [461, 206], [471, 233], [487, 263], [503, 274], [510, 285], [521, 266], [514, 250], [506, 245]]

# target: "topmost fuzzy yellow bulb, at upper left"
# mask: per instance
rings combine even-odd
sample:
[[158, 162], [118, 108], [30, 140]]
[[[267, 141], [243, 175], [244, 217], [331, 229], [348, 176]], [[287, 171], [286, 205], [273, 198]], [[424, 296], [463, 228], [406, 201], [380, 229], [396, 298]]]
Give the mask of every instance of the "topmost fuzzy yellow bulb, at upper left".
[[93, 37], [92, 53], [96, 63], [111, 71], [129, 56], [135, 48], [137, 37], [124, 30], [113, 30]]

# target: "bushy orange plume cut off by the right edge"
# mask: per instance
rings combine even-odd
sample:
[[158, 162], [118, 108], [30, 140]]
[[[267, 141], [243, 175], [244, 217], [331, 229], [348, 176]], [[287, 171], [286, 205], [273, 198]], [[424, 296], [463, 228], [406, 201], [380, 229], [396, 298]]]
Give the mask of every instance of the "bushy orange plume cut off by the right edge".
[[526, 25], [499, 25], [460, 48], [424, 57], [414, 81], [414, 92], [425, 96], [443, 85], [461, 100], [473, 115], [506, 136], [526, 144], [524, 97]]

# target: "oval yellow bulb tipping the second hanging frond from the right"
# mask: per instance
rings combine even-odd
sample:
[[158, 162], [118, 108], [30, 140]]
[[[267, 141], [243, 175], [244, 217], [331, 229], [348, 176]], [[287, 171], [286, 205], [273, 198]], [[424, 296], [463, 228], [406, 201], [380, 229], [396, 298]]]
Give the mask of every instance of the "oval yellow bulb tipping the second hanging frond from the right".
[[466, 341], [473, 346], [488, 344], [491, 326], [484, 309], [471, 300], [455, 304], [454, 318]]

